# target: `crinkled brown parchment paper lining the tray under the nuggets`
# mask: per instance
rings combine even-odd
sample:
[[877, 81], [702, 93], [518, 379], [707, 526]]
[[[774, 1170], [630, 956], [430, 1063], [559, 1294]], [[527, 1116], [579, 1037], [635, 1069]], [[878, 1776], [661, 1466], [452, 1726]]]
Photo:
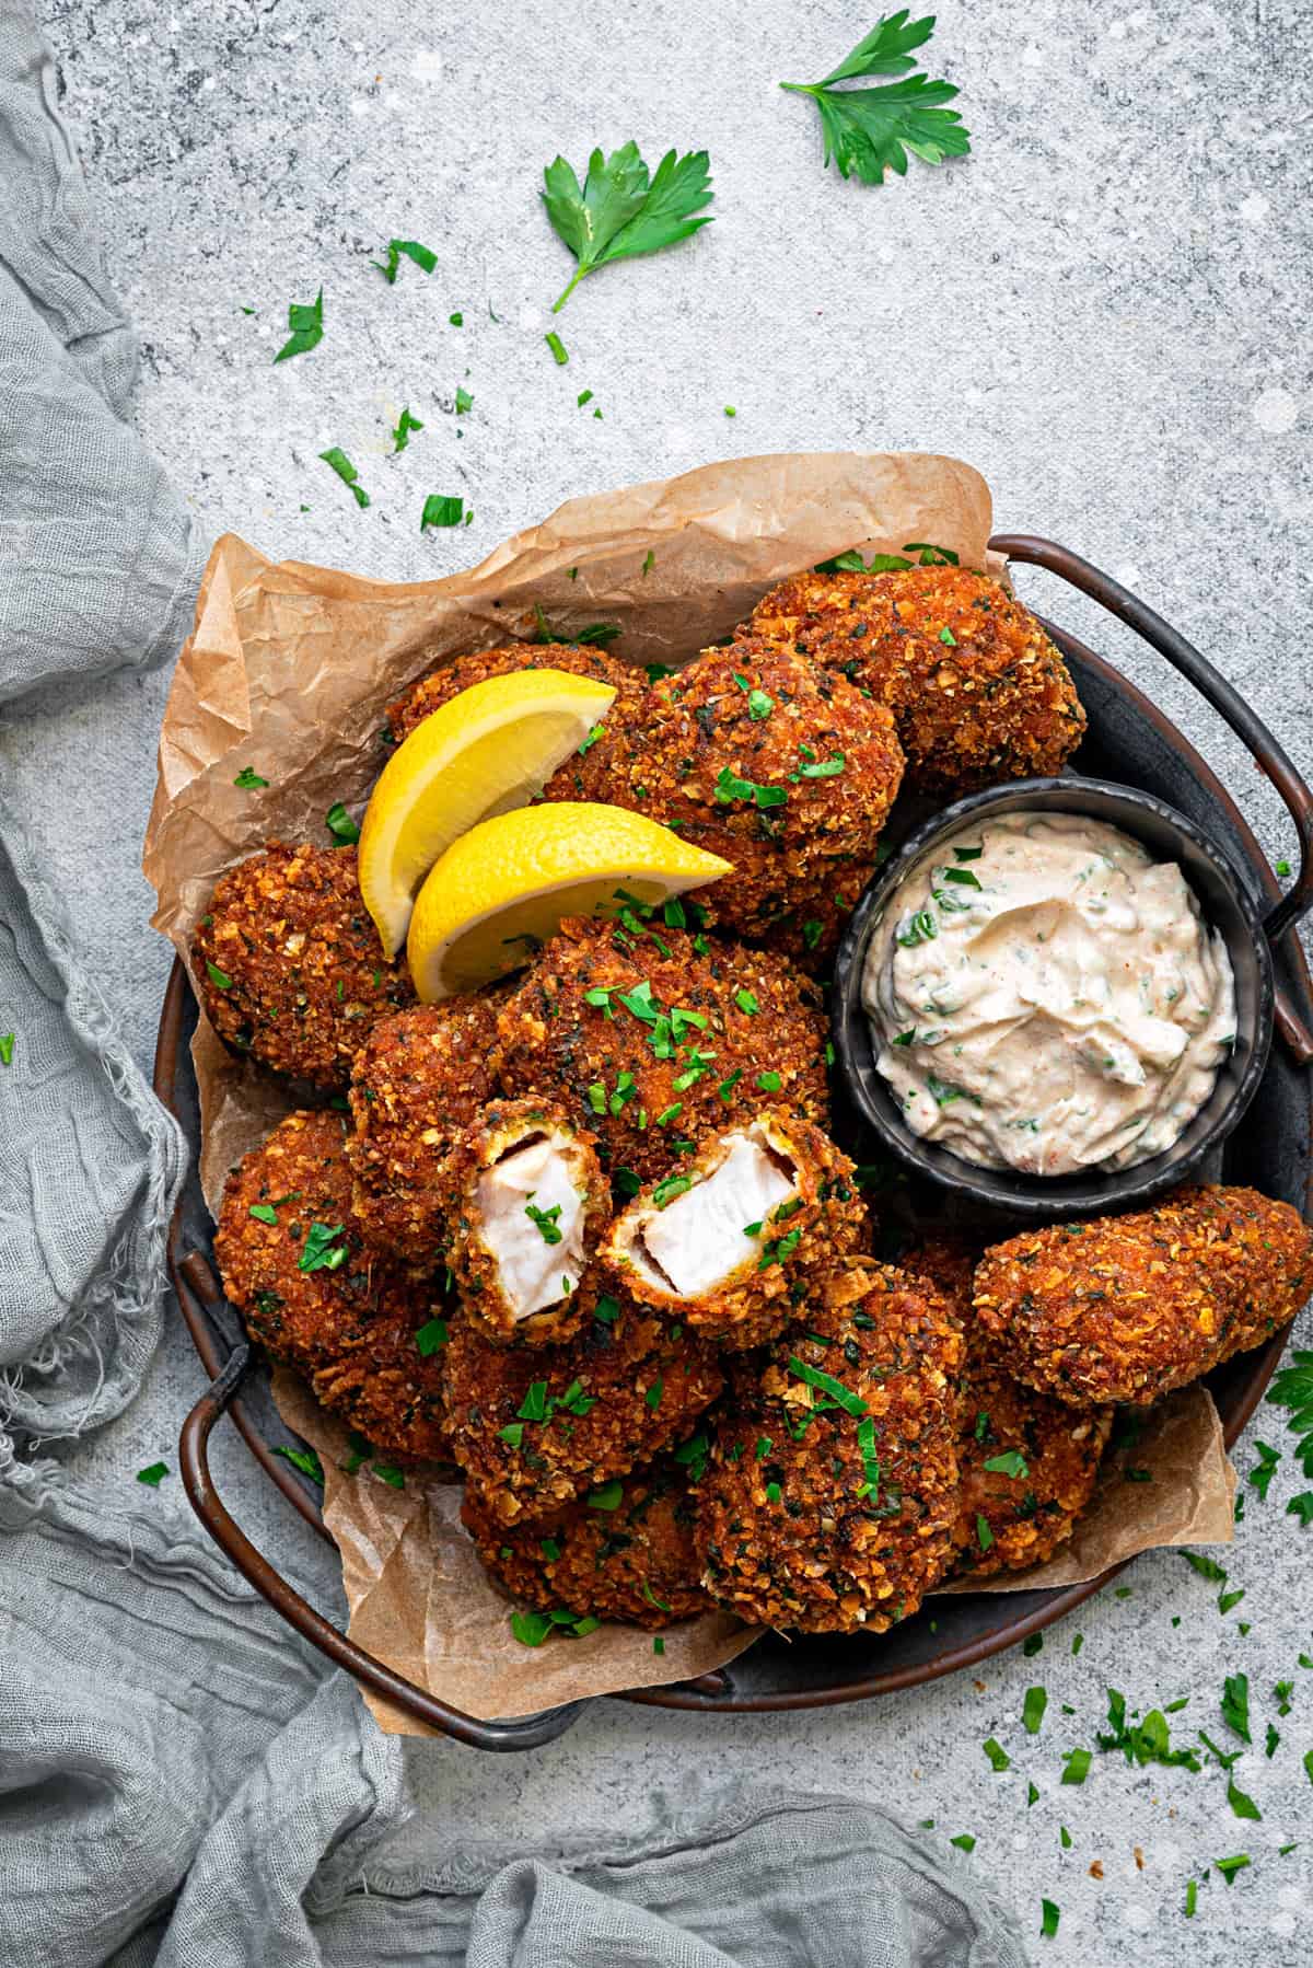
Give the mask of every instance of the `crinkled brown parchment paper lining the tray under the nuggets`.
[[[386, 705], [465, 649], [531, 640], [535, 606], [565, 636], [598, 620], [620, 624], [612, 651], [632, 663], [681, 663], [728, 634], [772, 583], [829, 555], [898, 553], [929, 539], [1000, 573], [988, 535], [988, 486], [969, 464], [846, 451], [738, 459], [569, 500], [478, 567], [441, 581], [382, 583], [274, 563], [228, 533], [211, 553], [159, 734], [144, 850], [156, 927], [185, 956], [224, 870], [274, 836], [327, 840], [323, 817], [339, 799], [358, 815], [382, 766]], [[232, 779], [244, 766], [270, 785], [238, 791]], [[270, 1075], [230, 1055], [205, 1017], [193, 1059], [201, 1181], [215, 1208], [232, 1163], [291, 1102]], [[325, 1466], [325, 1523], [343, 1553], [352, 1639], [469, 1714], [524, 1714], [687, 1679], [756, 1637], [709, 1614], [673, 1628], [663, 1655], [648, 1633], [618, 1626], [522, 1647], [506, 1600], [459, 1529], [459, 1488], [409, 1476], [394, 1490], [368, 1468], [346, 1476], [339, 1425], [293, 1376], [280, 1372], [274, 1391]], [[1156, 1413], [1136, 1466], [1154, 1482], [1108, 1476], [1065, 1555], [986, 1590], [1067, 1584], [1154, 1545], [1232, 1535], [1234, 1472], [1203, 1389]], [[388, 1704], [370, 1706], [382, 1728], [417, 1732]]]

